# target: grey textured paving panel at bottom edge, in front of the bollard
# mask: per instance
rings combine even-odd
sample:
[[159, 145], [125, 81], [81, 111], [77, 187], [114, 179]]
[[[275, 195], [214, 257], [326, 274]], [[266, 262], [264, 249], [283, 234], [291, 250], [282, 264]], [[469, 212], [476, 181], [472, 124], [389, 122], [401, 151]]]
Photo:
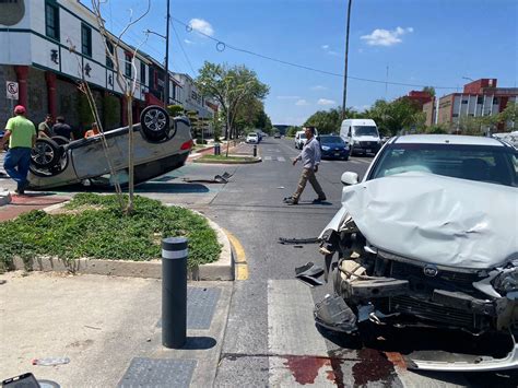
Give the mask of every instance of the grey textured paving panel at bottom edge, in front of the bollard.
[[196, 360], [136, 357], [118, 387], [189, 387], [195, 367]]

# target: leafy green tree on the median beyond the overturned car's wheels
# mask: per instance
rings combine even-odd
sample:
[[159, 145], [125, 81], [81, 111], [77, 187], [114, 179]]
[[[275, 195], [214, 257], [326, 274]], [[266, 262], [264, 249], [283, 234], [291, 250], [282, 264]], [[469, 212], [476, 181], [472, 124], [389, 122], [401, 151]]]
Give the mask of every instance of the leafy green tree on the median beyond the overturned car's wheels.
[[[228, 67], [205, 61], [196, 79], [198, 90], [216, 99], [226, 120], [225, 138], [233, 139], [236, 131], [233, 126], [244, 101], [255, 97], [262, 99], [269, 86], [260, 82], [255, 71], [244, 64]], [[226, 149], [228, 156], [228, 144]]]

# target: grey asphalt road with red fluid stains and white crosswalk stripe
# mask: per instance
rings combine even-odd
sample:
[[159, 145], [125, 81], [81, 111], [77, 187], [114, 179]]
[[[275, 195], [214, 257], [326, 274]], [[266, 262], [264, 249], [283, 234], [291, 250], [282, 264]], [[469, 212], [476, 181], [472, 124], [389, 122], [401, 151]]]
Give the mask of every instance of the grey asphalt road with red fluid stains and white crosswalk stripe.
[[[381, 332], [381, 340], [362, 344], [357, 339], [320, 333], [313, 308], [332, 292], [331, 284], [309, 289], [295, 280], [295, 267], [308, 261], [323, 266], [317, 245], [282, 245], [280, 237], [316, 237], [338, 209], [343, 172], [362, 177], [372, 157], [323, 161], [317, 174], [328, 201], [314, 204], [308, 184], [298, 205], [282, 202], [296, 188], [301, 164], [292, 166], [295, 150], [289, 139], [267, 138], [258, 151], [262, 163], [211, 166], [233, 173], [231, 181], [205, 203], [207, 213], [243, 244], [248, 280], [236, 281], [216, 386], [513, 386], [516, 374], [413, 373], [401, 364], [401, 353], [449, 349], [451, 342], [470, 343], [469, 337], [436, 337], [434, 332]], [[191, 167], [192, 168], [192, 167]], [[188, 175], [200, 174], [196, 167]], [[322, 336], [325, 334], [325, 336]], [[455, 349], [454, 349], [455, 351]], [[295, 357], [295, 361], [291, 357]], [[322, 366], [322, 360], [329, 365]], [[319, 372], [320, 371], [320, 372]], [[321, 371], [327, 375], [322, 377]], [[327, 377], [326, 377], [327, 376]]]

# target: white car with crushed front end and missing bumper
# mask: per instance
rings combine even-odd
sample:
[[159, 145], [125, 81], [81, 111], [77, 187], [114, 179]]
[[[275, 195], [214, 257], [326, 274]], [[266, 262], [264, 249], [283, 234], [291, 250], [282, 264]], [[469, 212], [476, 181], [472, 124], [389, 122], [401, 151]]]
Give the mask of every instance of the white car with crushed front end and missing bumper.
[[320, 235], [334, 295], [317, 324], [509, 336], [505, 357], [409, 357], [428, 371], [518, 367], [518, 154], [461, 136], [390, 139], [363, 181], [344, 173], [342, 208]]

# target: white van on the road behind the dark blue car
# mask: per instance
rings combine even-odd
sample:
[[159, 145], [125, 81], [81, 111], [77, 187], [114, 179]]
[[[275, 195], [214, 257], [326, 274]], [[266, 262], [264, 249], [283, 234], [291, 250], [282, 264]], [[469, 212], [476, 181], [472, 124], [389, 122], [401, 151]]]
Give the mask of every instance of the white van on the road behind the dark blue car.
[[376, 154], [381, 148], [378, 128], [372, 119], [353, 118], [343, 120], [340, 127], [340, 137], [349, 143], [351, 155], [354, 153]]

